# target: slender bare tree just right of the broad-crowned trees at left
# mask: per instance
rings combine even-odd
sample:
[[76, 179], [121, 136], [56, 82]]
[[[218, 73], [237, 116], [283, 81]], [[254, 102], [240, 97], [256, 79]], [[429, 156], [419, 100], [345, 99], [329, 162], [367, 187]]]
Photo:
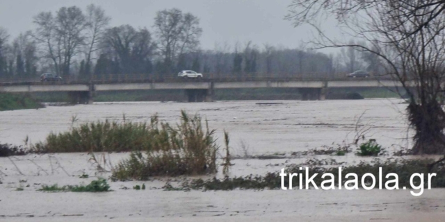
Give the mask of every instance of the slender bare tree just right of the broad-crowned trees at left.
[[105, 15], [105, 11], [99, 6], [90, 4], [86, 8], [86, 62], [85, 72], [90, 74], [92, 53], [98, 51], [99, 42], [102, 40], [104, 31], [110, 22], [110, 17]]

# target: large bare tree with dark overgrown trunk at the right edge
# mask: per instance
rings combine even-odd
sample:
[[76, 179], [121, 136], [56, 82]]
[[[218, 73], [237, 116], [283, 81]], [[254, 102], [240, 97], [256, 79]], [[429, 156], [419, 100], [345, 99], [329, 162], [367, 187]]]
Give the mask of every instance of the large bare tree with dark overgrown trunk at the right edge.
[[287, 16], [296, 25], [314, 24], [314, 17], [337, 15], [363, 44], [331, 40], [320, 28], [321, 47], [353, 47], [373, 53], [386, 73], [397, 80], [410, 97], [408, 119], [416, 130], [414, 153], [445, 153], [445, 75], [444, 1], [306, 1], [294, 0]]

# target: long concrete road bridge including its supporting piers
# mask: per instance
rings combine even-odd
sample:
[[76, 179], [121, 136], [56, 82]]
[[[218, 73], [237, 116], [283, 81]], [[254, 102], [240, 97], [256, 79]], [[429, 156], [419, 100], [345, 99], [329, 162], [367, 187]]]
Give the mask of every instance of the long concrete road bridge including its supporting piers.
[[95, 92], [184, 89], [188, 101], [213, 101], [214, 89], [298, 88], [303, 100], [324, 100], [333, 87], [401, 87], [378, 78], [144, 78], [69, 82], [3, 82], [0, 92], [68, 92], [72, 103], [92, 103]]

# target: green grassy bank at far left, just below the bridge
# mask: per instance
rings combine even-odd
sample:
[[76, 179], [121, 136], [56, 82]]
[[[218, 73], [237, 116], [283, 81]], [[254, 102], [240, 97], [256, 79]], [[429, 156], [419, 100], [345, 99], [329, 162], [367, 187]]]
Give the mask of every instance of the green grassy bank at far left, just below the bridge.
[[38, 108], [44, 108], [44, 105], [30, 94], [0, 93], [0, 111]]

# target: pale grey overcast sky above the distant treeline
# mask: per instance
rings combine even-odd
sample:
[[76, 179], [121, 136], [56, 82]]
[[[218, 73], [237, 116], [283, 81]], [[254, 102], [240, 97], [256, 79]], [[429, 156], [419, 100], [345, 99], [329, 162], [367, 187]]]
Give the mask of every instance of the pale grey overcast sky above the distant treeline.
[[[202, 49], [218, 44], [273, 44], [297, 48], [314, 35], [309, 27], [294, 28], [284, 20], [291, 0], [0, 0], [0, 26], [11, 37], [33, 30], [33, 16], [42, 11], [55, 12], [63, 6], [85, 9], [90, 3], [102, 6], [111, 17], [111, 26], [130, 24], [150, 31], [156, 11], [179, 8], [200, 18]], [[325, 27], [332, 28], [333, 21]], [[335, 32], [335, 28], [332, 28]]]

